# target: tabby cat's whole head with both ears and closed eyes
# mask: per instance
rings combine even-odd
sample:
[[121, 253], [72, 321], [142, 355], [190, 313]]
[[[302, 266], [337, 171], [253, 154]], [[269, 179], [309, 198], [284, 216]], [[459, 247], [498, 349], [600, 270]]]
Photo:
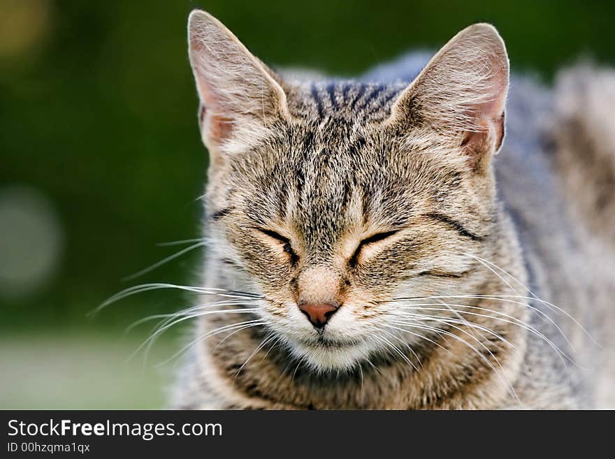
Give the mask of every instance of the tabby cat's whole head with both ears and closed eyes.
[[438, 316], [434, 296], [477, 291], [508, 87], [493, 27], [461, 31], [410, 85], [284, 80], [202, 11], [189, 56], [211, 250], [296, 356], [352, 367], [432, 335], [411, 305]]

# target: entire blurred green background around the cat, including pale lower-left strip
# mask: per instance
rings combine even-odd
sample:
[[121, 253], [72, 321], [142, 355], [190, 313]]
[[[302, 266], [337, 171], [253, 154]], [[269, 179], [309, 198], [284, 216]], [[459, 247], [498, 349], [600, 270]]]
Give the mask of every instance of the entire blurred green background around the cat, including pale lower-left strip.
[[352, 75], [472, 22], [495, 24], [513, 71], [549, 81], [588, 55], [615, 61], [607, 1], [0, 0], [0, 408], [164, 407], [182, 343], [126, 359], [149, 314], [189, 299], [161, 291], [86, 314], [140, 282], [197, 282], [187, 254], [120, 279], [199, 235], [207, 154], [186, 53], [192, 8], [216, 15], [261, 59]]

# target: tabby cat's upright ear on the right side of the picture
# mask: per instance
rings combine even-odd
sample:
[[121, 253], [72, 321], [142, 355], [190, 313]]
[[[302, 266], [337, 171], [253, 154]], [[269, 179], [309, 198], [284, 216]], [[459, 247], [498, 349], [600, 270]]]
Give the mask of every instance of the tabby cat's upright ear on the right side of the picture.
[[509, 64], [490, 24], [459, 32], [435, 54], [393, 104], [389, 122], [429, 148], [460, 152], [486, 170], [504, 138]]

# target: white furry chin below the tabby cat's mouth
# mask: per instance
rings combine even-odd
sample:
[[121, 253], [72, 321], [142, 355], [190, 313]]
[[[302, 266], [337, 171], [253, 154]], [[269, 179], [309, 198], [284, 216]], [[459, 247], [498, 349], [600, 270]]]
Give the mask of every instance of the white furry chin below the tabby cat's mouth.
[[291, 342], [291, 353], [316, 372], [352, 370], [366, 360], [375, 345], [363, 342]]

